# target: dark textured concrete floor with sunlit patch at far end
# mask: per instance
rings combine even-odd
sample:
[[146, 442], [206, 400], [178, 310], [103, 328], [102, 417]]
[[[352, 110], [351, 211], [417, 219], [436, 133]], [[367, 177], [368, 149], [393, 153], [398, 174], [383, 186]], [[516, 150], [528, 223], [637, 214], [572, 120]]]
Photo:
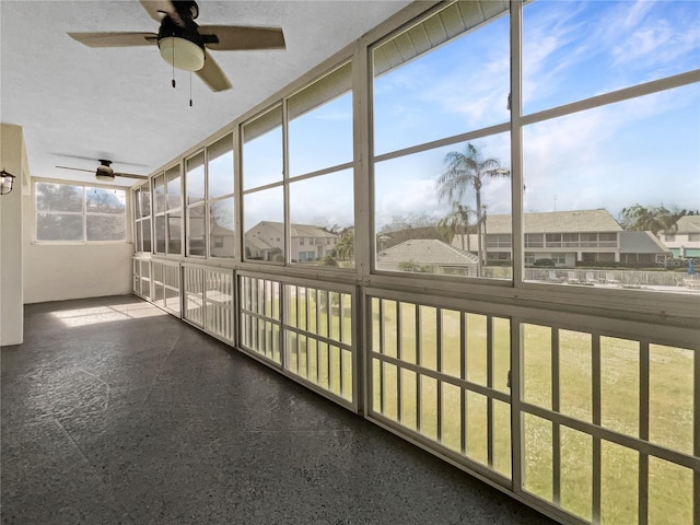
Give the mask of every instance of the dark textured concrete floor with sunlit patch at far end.
[[551, 523], [131, 296], [2, 349], [3, 524]]

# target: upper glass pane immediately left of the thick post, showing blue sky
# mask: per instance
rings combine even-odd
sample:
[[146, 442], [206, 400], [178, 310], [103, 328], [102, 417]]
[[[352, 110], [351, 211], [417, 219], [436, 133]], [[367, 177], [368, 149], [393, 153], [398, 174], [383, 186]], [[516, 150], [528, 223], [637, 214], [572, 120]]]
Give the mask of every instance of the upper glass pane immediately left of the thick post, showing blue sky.
[[289, 98], [290, 176], [352, 161], [351, 72], [347, 63]]

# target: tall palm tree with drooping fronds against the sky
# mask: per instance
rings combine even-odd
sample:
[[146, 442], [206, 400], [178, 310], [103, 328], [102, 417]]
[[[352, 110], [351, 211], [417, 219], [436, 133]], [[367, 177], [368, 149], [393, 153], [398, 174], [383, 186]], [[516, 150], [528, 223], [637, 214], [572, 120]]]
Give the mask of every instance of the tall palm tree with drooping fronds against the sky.
[[474, 188], [476, 192], [476, 212], [477, 212], [477, 252], [479, 254], [479, 275], [481, 266], [486, 262], [486, 254], [483, 252], [483, 240], [481, 232], [483, 230], [483, 208], [481, 206], [481, 187], [488, 178], [510, 177], [511, 172], [501, 166], [501, 161], [483, 155], [476, 147], [467, 142], [464, 151], [451, 151], [445, 155], [445, 164], [447, 168], [438, 177], [438, 198], [443, 200], [447, 198], [451, 201], [459, 201], [469, 188]]

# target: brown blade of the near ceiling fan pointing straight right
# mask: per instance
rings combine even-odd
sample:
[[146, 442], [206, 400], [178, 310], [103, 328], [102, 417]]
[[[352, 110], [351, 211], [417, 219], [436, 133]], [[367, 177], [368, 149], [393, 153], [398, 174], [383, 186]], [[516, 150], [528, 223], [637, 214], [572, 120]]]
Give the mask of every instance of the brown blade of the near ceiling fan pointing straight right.
[[207, 47], [215, 51], [284, 49], [284, 34], [281, 27], [200, 25], [199, 34], [215, 35], [219, 38], [218, 43], [207, 43]]

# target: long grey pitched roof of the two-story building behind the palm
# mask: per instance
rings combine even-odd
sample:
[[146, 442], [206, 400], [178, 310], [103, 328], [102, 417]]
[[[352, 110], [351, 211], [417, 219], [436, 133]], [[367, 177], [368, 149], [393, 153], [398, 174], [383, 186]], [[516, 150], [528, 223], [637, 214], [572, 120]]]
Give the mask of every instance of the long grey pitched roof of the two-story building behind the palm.
[[[547, 211], [525, 213], [524, 233], [592, 233], [621, 232], [622, 226], [605, 209]], [[511, 233], [510, 214], [487, 215], [486, 232]]]

